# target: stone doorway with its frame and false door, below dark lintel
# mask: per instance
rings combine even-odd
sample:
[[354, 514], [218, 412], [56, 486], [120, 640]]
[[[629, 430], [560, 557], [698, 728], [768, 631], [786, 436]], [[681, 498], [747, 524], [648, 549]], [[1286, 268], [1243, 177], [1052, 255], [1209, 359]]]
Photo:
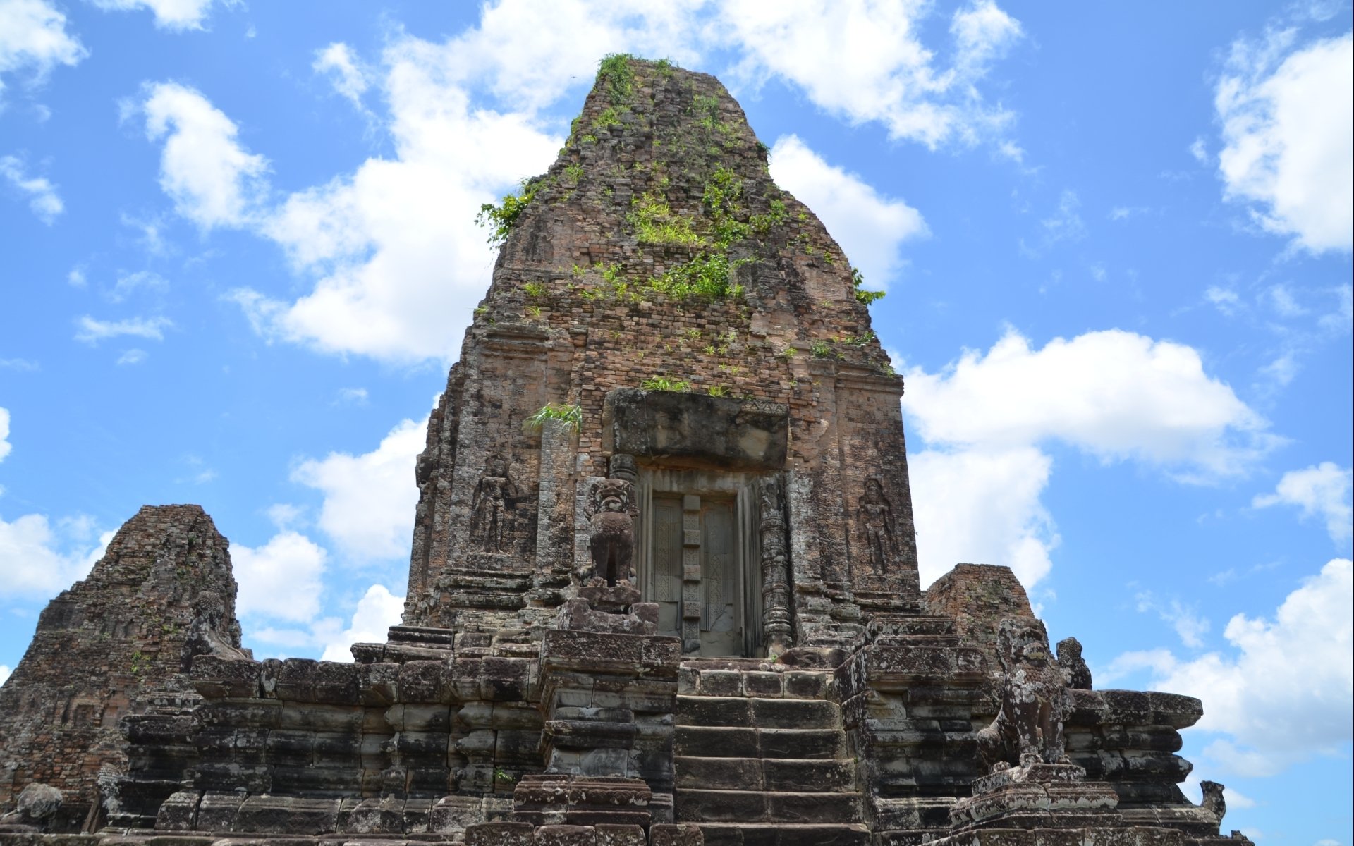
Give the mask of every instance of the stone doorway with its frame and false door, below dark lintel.
[[761, 642], [756, 508], [742, 474], [640, 471], [639, 587], [682, 651], [751, 656]]

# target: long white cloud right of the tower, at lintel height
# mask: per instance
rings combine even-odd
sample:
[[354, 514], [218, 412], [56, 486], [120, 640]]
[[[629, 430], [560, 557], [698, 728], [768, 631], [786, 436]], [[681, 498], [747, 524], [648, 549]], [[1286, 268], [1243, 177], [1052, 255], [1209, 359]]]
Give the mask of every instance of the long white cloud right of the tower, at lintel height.
[[1197, 351], [1110, 329], [1043, 349], [1009, 330], [940, 374], [907, 374], [903, 407], [927, 443], [1017, 447], [1063, 440], [1104, 462], [1137, 459], [1186, 478], [1238, 475], [1277, 440]]

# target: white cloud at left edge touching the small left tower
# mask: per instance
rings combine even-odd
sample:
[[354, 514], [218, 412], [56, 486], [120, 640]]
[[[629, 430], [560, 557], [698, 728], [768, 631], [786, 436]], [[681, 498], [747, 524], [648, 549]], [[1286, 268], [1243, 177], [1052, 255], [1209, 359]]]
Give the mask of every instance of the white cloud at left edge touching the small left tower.
[[0, 518], [0, 596], [50, 597], [85, 577], [103, 555], [112, 532], [95, 537], [88, 517], [58, 520], [24, 514]]

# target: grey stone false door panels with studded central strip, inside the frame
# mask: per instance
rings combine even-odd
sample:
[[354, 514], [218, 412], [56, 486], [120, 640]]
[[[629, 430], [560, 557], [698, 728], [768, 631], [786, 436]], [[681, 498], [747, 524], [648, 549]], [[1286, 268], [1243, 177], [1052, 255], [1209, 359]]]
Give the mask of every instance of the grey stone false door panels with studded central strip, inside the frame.
[[682, 651], [743, 654], [743, 605], [735, 501], [654, 494], [647, 597], [658, 633]]

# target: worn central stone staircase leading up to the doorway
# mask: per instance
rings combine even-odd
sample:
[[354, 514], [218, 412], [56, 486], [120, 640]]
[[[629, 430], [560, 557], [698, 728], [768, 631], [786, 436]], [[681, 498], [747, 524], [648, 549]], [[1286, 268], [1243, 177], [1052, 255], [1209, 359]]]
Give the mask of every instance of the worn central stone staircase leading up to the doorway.
[[707, 846], [865, 846], [830, 670], [689, 659], [678, 675], [677, 822]]

